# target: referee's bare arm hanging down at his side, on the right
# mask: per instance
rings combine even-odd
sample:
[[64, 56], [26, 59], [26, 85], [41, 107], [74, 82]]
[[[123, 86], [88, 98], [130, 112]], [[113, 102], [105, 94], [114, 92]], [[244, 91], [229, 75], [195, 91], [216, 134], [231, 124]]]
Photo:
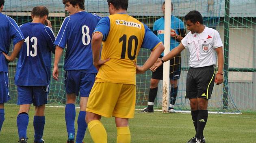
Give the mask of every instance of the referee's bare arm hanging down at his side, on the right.
[[223, 50], [222, 47], [215, 48], [215, 51], [218, 56], [218, 72], [215, 76], [215, 83], [221, 84], [223, 82], [223, 64], [224, 64], [224, 57], [223, 57]]

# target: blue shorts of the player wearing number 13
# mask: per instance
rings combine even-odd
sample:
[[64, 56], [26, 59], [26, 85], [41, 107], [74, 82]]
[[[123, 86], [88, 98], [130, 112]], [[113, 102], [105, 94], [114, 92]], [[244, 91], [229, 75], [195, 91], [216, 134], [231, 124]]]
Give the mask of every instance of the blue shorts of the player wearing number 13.
[[17, 105], [32, 104], [41, 106], [47, 104], [49, 85], [47, 86], [17, 86]]

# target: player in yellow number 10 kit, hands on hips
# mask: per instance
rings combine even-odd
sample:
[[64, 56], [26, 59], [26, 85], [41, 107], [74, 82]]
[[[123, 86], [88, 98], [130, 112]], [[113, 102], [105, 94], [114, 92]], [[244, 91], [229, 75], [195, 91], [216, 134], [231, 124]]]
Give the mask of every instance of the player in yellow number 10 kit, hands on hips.
[[[117, 143], [130, 143], [128, 119], [134, 117], [136, 72], [150, 68], [164, 46], [146, 25], [126, 13], [128, 0], [107, 2], [110, 16], [100, 20], [92, 38], [93, 64], [99, 72], [89, 95], [86, 122], [93, 141], [107, 143], [100, 118], [114, 116]], [[136, 68], [141, 47], [152, 53], [142, 67]]]

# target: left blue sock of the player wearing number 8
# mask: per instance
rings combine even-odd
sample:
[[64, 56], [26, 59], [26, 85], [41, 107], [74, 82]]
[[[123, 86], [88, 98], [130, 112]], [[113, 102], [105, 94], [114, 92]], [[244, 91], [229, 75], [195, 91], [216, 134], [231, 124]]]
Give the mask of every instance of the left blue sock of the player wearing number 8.
[[65, 107], [65, 120], [67, 126], [67, 135], [75, 135], [75, 118], [76, 118], [76, 107], [74, 104], [66, 104]]

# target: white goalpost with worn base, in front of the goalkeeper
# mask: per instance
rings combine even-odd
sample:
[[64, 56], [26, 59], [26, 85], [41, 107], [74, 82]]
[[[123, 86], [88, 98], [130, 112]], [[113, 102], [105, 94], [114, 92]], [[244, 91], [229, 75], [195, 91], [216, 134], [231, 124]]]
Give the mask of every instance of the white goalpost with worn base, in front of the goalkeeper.
[[[165, 36], [164, 36], [164, 55], [170, 52], [171, 42], [171, 0], [165, 0]], [[170, 61], [166, 61], [163, 64], [163, 100], [162, 110], [163, 113], [168, 112], [169, 105], [169, 73], [170, 73]]]

